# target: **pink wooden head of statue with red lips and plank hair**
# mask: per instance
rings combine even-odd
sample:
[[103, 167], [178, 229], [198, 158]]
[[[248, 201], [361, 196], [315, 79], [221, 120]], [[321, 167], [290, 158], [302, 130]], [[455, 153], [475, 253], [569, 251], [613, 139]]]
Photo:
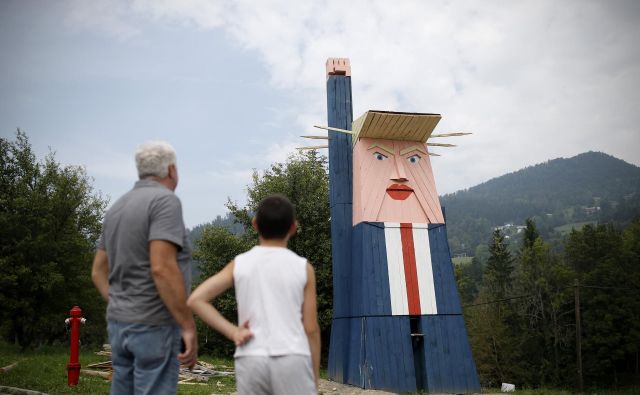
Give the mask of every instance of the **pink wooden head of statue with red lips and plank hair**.
[[353, 123], [353, 225], [444, 223], [426, 140], [438, 114], [369, 111]]

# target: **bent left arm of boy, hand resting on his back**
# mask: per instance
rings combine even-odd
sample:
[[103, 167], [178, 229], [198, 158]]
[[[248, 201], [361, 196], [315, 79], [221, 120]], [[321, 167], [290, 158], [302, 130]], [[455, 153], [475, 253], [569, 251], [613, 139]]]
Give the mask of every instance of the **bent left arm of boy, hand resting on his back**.
[[231, 261], [215, 276], [200, 284], [189, 297], [187, 304], [209, 326], [233, 341], [236, 346], [241, 346], [253, 337], [249, 330], [249, 323], [235, 326], [209, 303], [233, 286], [234, 265], [235, 263]]

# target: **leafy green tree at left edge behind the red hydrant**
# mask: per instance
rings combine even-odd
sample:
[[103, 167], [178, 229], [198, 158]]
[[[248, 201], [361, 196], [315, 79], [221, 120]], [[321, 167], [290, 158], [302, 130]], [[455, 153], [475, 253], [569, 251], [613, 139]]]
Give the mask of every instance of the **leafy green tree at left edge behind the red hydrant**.
[[85, 171], [50, 153], [36, 159], [27, 135], [0, 139], [0, 328], [23, 348], [64, 339], [81, 306], [84, 340], [104, 340], [104, 304], [90, 279], [106, 201]]

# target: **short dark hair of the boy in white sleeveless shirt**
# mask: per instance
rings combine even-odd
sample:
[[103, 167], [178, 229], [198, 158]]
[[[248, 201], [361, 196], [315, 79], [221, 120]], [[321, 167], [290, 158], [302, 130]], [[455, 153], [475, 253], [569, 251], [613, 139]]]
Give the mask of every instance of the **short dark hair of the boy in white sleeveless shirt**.
[[284, 239], [295, 219], [296, 210], [283, 195], [271, 195], [258, 204], [256, 222], [263, 239]]

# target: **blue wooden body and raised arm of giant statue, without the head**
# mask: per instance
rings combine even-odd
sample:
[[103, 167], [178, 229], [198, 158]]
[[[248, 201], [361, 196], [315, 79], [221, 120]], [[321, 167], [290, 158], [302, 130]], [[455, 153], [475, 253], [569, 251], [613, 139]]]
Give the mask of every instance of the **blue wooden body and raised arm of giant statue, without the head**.
[[[347, 59], [327, 61], [327, 113], [329, 127], [352, 130]], [[354, 226], [354, 138], [329, 131], [334, 289], [329, 377], [395, 392], [479, 392], [444, 220], [426, 224], [361, 221]], [[385, 147], [371, 147], [376, 145]], [[419, 155], [413, 155], [412, 161]], [[396, 259], [391, 251], [394, 238], [404, 257], [399, 253]], [[409, 252], [407, 238], [412, 247]], [[400, 287], [404, 288], [398, 294], [394, 291], [397, 279], [391, 278], [393, 268], [405, 270], [407, 255], [412, 255], [417, 267], [413, 282], [425, 282], [428, 277], [432, 285], [420, 285], [420, 289], [416, 285], [412, 290], [407, 274], [409, 280], [405, 283], [403, 278]], [[411, 292], [416, 298], [420, 293], [419, 300], [412, 302]], [[409, 295], [408, 299], [403, 295]]]

